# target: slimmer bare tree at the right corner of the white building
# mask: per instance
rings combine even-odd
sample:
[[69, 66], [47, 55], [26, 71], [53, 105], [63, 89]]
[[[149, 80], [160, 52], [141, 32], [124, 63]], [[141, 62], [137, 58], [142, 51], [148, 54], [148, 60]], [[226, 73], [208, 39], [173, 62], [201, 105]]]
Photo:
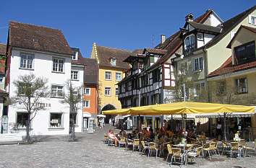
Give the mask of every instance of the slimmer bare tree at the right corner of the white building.
[[62, 100], [62, 103], [69, 104], [70, 108], [70, 115], [71, 115], [71, 121], [69, 122], [69, 127], [71, 128], [71, 132], [69, 133], [69, 140], [75, 141], [75, 133], [74, 133], [74, 126], [75, 121], [77, 118], [77, 112], [81, 108], [80, 103], [82, 102], [82, 87], [73, 87], [72, 81], [66, 82], [68, 93], [64, 94], [64, 100]]

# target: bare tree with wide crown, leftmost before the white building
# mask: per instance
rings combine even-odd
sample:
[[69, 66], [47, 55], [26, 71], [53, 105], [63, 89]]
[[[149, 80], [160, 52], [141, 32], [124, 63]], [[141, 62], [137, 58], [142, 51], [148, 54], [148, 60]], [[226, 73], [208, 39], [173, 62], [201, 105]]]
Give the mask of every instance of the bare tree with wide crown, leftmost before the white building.
[[11, 105], [17, 105], [17, 107], [27, 112], [26, 143], [33, 142], [30, 138], [31, 121], [35, 118], [38, 110], [44, 110], [41, 98], [50, 95], [48, 86], [46, 85], [47, 82], [48, 79], [36, 77], [34, 74], [19, 76], [18, 79], [13, 82], [16, 87], [16, 96], [11, 97], [9, 103]]

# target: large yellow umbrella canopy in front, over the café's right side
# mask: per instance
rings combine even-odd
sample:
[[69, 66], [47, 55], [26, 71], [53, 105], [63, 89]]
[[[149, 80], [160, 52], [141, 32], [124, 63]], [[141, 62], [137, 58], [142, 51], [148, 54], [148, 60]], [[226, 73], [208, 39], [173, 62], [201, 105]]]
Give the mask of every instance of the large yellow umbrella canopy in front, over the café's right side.
[[255, 107], [205, 102], [176, 102], [130, 108], [130, 115], [184, 115], [224, 112], [255, 112]]

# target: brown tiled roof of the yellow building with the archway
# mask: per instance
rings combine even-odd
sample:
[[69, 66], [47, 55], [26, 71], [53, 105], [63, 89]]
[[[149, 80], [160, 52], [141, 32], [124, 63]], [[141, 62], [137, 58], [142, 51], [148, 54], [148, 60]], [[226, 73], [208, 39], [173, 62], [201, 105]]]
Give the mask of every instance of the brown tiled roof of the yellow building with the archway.
[[[97, 50], [97, 57], [100, 66], [108, 66], [114, 68], [128, 69], [128, 63], [123, 62], [128, 56], [131, 55], [129, 50], [121, 50], [117, 48], [108, 48], [100, 45], [95, 45]], [[112, 66], [111, 58], [116, 58], [116, 66]]]

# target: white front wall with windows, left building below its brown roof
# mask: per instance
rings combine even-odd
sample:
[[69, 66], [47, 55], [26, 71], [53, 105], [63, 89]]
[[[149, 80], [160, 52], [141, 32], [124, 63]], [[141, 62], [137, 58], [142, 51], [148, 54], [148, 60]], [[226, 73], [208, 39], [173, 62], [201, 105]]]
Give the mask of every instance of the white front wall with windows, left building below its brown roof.
[[[69, 133], [69, 105], [63, 104], [63, 93], [67, 92], [65, 82], [71, 79], [71, 72], [78, 71], [77, 79], [72, 80], [72, 86], [82, 86], [83, 66], [72, 65], [72, 56], [57, 53], [46, 53], [35, 50], [12, 48], [10, 79], [7, 92], [15, 96], [17, 88], [13, 81], [24, 74], [35, 74], [48, 79], [48, 89], [51, 97], [43, 98], [42, 105], [46, 110], [37, 112], [31, 123], [32, 135], [56, 135]], [[82, 102], [81, 102], [82, 107]], [[9, 105], [9, 132], [20, 131], [25, 134], [24, 122], [26, 112], [22, 105]], [[82, 108], [77, 115], [75, 131], [82, 131]]]

